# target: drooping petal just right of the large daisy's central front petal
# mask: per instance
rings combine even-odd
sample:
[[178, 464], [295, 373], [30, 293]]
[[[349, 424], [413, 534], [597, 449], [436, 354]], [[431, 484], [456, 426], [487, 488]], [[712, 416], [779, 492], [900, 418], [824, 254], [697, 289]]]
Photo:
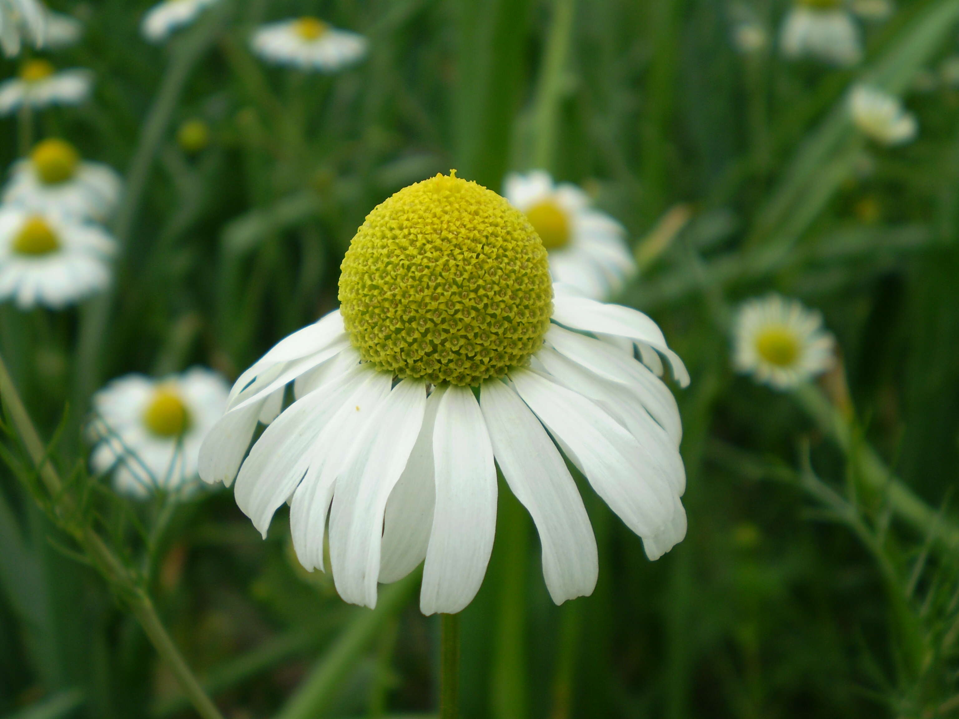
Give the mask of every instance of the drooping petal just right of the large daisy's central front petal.
[[479, 390], [496, 461], [536, 524], [543, 575], [556, 604], [591, 594], [599, 564], [596, 537], [573, 476], [539, 420], [499, 381]]

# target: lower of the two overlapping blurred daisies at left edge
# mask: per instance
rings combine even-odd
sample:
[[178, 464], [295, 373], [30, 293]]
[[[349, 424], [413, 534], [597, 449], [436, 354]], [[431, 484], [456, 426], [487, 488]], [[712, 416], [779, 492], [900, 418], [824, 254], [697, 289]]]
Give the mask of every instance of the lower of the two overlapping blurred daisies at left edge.
[[0, 300], [60, 309], [104, 290], [113, 239], [65, 215], [0, 207]]

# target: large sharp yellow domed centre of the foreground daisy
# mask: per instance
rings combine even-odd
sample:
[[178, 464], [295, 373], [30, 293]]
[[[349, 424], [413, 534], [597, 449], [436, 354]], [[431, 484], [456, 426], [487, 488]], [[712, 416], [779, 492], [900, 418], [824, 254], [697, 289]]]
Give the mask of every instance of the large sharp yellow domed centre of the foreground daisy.
[[353, 346], [400, 378], [475, 385], [503, 377], [550, 327], [543, 243], [523, 213], [456, 173], [374, 208], [341, 270]]

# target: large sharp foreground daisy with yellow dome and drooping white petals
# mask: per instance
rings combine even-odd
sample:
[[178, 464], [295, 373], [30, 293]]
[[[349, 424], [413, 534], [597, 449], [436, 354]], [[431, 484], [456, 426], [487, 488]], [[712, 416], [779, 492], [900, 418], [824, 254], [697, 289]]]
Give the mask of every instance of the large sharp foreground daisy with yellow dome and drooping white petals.
[[[378, 582], [425, 560], [423, 613], [469, 604], [497, 466], [539, 531], [552, 599], [589, 594], [596, 540], [564, 454], [650, 559], [683, 539], [682, 429], [657, 377], [662, 355], [688, 383], [682, 360], [643, 313], [554, 295], [543, 244], [503, 197], [455, 174], [411, 185], [366, 217], [341, 269], [339, 310], [233, 385], [199, 474], [236, 476], [264, 535], [290, 501], [305, 568], [324, 569], [329, 519], [343, 599], [372, 607]], [[296, 400], [277, 416], [288, 383]], [[269, 427], [246, 456], [258, 420]]]

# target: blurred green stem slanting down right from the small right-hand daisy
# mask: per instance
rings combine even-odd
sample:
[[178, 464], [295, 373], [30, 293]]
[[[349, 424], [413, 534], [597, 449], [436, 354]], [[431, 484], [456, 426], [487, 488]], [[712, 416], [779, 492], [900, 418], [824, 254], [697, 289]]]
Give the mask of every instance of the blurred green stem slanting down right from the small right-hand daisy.
[[856, 439], [853, 418], [845, 416], [812, 384], [800, 386], [795, 397], [819, 429], [854, 462], [863, 484], [882, 493], [904, 522], [921, 534], [929, 533], [944, 548], [954, 550], [959, 547], [959, 527], [893, 475], [872, 447]]

